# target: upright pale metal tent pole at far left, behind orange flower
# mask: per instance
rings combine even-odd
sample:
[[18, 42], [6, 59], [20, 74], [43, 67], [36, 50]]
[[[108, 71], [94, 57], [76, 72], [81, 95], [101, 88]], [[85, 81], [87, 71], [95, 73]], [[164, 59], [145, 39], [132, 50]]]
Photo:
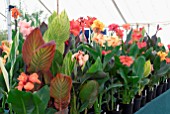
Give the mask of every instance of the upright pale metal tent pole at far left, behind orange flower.
[[6, 0], [7, 4], [7, 28], [8, 28], [8, 41], [12, 41], [12, 32], [11, 32], [11, 11], [9, 9], [10, 0]]

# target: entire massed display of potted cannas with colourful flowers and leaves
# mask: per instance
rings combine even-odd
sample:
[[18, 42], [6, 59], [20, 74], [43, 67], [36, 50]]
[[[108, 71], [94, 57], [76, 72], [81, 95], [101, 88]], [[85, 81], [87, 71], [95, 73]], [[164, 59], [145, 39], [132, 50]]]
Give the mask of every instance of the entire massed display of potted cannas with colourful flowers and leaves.
[[0, 45], [0, 113], [133, 114], [170, 88], [159, 25], [152, 37], [115, 23], [105, 35], [97, 18], [70, 20], [65, 11], [48, 24], [17, 8], [12, 17], [12, 41]]

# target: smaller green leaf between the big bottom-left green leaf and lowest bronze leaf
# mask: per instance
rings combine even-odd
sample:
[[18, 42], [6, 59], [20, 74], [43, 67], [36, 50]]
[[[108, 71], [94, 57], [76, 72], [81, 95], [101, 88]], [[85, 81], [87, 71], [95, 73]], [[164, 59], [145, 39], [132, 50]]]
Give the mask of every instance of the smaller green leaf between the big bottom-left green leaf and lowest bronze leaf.
[[46, 109], [48, 102], [50, 100], [49, 87], [47, 85], [45, 85], [39, 91], [35, 92], [34, 95], [38, 96], [38, 98], [42, 101], [43, 109]]

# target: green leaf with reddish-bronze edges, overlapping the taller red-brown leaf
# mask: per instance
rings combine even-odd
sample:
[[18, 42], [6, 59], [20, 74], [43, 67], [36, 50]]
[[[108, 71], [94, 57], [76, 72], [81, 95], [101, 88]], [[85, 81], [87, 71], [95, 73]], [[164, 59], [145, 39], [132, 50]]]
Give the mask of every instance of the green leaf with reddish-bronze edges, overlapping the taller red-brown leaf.
[[29, 72], [48, 71], [55, 54], [55, 42], [51, 41], [35, 50], [31, 58]]

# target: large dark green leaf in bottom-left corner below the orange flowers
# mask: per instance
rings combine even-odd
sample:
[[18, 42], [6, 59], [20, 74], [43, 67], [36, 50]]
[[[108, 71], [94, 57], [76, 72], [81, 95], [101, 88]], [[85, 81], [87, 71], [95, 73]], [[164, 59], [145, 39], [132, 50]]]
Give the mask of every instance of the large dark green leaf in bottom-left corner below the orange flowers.
[[17, 114], [44, 114], [43, 102], [37, 95], [30, 92], [12, 89], [9, 92], [8, 102], [12, 104]]

